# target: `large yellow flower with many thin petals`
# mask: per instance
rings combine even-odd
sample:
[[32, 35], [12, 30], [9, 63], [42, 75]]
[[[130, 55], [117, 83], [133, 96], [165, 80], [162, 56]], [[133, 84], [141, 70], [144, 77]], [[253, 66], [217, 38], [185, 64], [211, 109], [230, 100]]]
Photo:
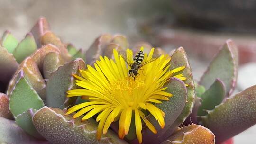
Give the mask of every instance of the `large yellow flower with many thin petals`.
[[[143, 50], [143, 48], [142, 48]], [[152, 59], [154, 48], [144, 56], [144, 61]], [[178, 67], [169, 70], [169, 56], [161, 55], [151, 63], [146, 64], [138, 71], [138, 76], [134, 80], [129, 77], [130, 69], [123, 57], [114, 50], [115, 61], [107, 57], [100, 56], [100, 60], [94, 63], [94, 67], [88, 65], [86, 70], [80, 70], [82, 77], [74, 75], [76, 85], [84, 89], [69, 90], [67, 97], [81, 96], [88, 100], [68, 109], [66, 114], [71, 114], [79, 110], [73, 118], [82, 117], [82, 120], [91, 118], [99, 114], [96, 121], [99, 122], [97, 129], [97, 139], [101, 134], [106, 134], [110, 124], [119, 120], [118, 135], [124, 138], [128, 134], [131, 125], [132, 114], [135, 117], [136, 135], [139, 143], [142, 143], [142, 121], [153, 132], [157, 133], [155, 127], [147, 120], [144, 111], [147, 110], [158, 121], [159, 125], [165, 126], [165, 113], [154, 104], [161, 103], [161, 100], [169, 100], [172, 94], [165, 92], [164, 84], [170, 77], [177, 77], [181, 80], [186, 78], [182, 75], [174, 76], [175, 72], [183, 70], [185, 67]], [[132, 51], [127, 49], [127, 60], [133, 62]]]

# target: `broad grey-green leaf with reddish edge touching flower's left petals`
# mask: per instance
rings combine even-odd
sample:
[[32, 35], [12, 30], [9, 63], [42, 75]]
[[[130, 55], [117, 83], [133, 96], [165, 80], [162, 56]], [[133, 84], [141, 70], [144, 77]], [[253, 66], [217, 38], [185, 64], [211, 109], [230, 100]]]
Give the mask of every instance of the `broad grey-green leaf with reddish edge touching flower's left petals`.
[[75, 104], [76, 97], [66, 98], [66, 91], [77, 88], [73, 74], [85, 69], [85, 63], [77, 58], [53, 72], [46, 85], [46, 104], [49, 107], [66, 108]]

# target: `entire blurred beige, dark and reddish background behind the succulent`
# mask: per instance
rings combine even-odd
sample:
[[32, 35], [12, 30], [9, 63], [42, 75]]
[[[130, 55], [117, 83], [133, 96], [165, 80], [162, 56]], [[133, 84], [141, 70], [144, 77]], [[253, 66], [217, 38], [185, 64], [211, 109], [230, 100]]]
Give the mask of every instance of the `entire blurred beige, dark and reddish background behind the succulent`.
[[[64, 42], [88, 49], [104, 33], [147, 41], [167, 52], [183, 46], [199, 80], [221, 45], [239, 49], [238, 88], [256, 84], [256, 0], [0, 0], [0, 33], [19, 40], [44, 16]], [[255, 144], [256, 126], [235, 136]]]

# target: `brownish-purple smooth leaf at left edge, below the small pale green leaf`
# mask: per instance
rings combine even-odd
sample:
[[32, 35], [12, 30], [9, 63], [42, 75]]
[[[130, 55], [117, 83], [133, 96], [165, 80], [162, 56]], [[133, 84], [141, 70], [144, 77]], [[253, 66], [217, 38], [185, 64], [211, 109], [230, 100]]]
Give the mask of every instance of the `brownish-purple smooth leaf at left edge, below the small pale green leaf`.
[[6, 90], [6, 86], [17, 68], [18, 63], [13, 55], [0, 45], [0, 90]]

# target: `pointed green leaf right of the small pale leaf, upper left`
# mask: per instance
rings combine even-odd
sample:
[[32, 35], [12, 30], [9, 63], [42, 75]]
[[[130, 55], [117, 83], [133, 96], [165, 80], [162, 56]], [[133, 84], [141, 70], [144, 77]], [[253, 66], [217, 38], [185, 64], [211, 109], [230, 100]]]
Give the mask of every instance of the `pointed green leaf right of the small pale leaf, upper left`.
[[18, 63], [21, 63], [27, 56], [34, 53], [36, 49], [36, 41], [33, 35], [28, 33], [13, 51], [13, 56], [16, 58]]

